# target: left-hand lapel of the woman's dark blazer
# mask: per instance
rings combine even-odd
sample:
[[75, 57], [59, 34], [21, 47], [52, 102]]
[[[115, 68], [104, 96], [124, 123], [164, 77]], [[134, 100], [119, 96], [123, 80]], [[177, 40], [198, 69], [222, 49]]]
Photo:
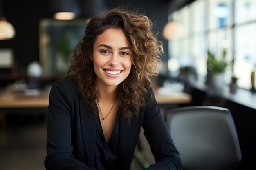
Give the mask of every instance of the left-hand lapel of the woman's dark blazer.
[[94, 167], [96, 117], [93, 111], [87, 107], [83, 99], [79, 99], [79, 107], [86, 157], [88, 159], [88, 165]]

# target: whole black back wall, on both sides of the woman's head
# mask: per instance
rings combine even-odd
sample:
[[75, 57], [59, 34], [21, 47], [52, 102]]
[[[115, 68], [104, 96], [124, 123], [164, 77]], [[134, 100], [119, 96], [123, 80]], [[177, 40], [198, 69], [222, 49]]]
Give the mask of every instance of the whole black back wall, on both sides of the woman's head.
[[[4, 16], [15, 27], [16, 36], [12, 40], [0, 40], [0, 48], [13, 49], [18, 73], [25, 73], [30, 62], [39, 60], [38, 23], [41, 18], [53, 17], [50, 2], [51, 0], [3, 0]], [[159, 40], [162, 40], [164, 53], [167, 56], [168, 42], [162, 38], [162, 30], [168, 22], [168, 0], [108, 0], [105, 2], [108, 9], [120, 4], [130, 4], [144, 9], [145, 15], [156, 24], [154, 31], [160, 33]], [[81, 6], [85, 8], [86, 4], [83, 3]]]

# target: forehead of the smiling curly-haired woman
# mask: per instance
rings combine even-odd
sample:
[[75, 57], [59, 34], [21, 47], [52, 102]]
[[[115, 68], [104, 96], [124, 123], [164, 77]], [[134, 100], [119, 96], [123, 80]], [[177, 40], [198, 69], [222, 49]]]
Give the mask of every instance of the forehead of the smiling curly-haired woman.
[[106, 29], [100, 34], [94, 42], [94, 46], [99, 44], [106, 44], [109, 46], [129, 46], [128, 38], [122, 29]]

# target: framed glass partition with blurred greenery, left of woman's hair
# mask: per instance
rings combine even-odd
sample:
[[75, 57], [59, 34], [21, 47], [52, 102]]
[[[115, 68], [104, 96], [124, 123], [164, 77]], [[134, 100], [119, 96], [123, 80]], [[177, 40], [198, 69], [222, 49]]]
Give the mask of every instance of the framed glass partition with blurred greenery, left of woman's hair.
[[40, 20], [39, 58], [44, 76], [63, 76], [67, 73], [70, 57], [85, 28], [85, 19]]

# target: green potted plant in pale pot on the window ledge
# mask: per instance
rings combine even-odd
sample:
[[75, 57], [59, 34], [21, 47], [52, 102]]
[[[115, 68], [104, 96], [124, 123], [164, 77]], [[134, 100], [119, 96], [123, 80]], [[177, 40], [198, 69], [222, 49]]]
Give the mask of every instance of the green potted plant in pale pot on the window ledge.
[[234, 63], [234, 59], [230, 62], [226, 59], [227, 48], [222, 49], [222, 56], [217, 57], [209, 49], [207, 50], [207, 82], [213, 88], [222, 89], [225, 84], [224, 73], [227, 66]]

